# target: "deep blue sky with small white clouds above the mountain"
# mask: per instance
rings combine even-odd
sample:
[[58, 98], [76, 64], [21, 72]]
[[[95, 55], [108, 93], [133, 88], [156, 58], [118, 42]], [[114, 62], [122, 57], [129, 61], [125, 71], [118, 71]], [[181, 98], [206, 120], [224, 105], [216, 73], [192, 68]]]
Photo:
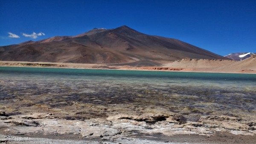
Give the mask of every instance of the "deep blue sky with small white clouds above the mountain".
[[0, 46], [123, 25], [219, 55], [256, 52], [256, 0], [0, 0]]

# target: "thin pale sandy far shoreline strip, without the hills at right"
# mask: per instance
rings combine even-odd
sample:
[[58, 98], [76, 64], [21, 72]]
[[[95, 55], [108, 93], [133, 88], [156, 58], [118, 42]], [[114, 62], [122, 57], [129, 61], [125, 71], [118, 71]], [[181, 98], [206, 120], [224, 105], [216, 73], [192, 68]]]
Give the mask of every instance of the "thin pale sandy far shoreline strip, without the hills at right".
[[[26, 66], [24, 64], [29, 64]], [[34, 66], [30, 66], [34, 64]], [[55, 66], [38, 66], [38, 64], [54, 64]], [[202, 72], [202, 73], [230, 73], [230, 74], [256, 74], [254, 70], [241, 70], [241, 72], [225, 72], [225, 71], [209, 71], [209, 68], [172, 68], [164, 66], [115, 66], [111, 64], [87, 64], [87, 63], [51, 63], [51, 62], [12, 62], [0, 61], [0, 66], [6, 67], [38, 67], [38, 68], [63, 68], [63, 69], [107, 69], [107, 70], [131, 70], [131, 71], [156, 71], [156, 72]], [[161, 69], [152, 69], [161, 68]], [[180, 69], [180, 70], [167, 70], [167, 69]], [[213, 67], [214, 68], [214, 67]], [[250, 71], [250, 72], [247, 72]]]

